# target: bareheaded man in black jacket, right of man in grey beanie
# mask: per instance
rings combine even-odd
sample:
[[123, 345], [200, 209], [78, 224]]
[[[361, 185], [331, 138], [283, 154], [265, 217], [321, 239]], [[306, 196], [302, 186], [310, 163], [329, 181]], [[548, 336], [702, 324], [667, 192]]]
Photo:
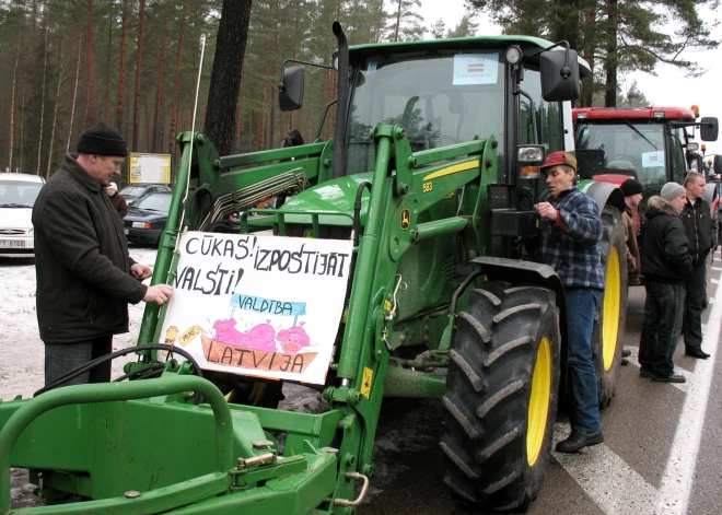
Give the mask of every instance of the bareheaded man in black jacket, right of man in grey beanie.
[[708, 359], [702, 350], [702, 309], [707, 290], [707, 256], [712, 248], [712, 215], [704, 200], [706, 180], [702, 174], [690, 172], [685, 178], [687, 201], [682, 210], [682, 222], [689, 241], [692, 276], [687, 283], [687, 307], [684, 314], [685, 354]]

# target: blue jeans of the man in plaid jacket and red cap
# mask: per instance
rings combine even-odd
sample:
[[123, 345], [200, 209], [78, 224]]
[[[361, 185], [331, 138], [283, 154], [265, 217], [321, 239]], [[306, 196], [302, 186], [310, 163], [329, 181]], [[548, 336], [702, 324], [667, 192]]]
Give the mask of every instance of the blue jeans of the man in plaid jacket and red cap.
[[569, 329], [567, 367], [571, 389], [570, 422], [574, 431], [599, 431], [599, 397], [592, 361], [594, 311], [602, 290], [566, 288]]

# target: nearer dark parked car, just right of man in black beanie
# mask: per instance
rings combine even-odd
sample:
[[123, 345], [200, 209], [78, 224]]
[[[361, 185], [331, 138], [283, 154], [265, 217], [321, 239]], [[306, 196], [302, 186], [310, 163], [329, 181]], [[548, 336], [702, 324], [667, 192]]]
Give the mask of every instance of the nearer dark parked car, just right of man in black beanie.
[[158, 245], [168, 220], [172, 198], [170, 191], [156, 191], [129, 206], [128, 214], [123, 219], [128, 242]]

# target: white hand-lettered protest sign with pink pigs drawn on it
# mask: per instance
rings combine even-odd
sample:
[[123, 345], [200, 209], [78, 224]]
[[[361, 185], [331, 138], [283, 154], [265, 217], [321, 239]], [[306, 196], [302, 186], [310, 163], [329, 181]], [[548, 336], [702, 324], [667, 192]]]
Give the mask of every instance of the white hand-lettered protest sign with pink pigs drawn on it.
[[350, 239], [184, 233], [160, 342], [183, 347], [203, 370], [323, 385], [352, 248]]

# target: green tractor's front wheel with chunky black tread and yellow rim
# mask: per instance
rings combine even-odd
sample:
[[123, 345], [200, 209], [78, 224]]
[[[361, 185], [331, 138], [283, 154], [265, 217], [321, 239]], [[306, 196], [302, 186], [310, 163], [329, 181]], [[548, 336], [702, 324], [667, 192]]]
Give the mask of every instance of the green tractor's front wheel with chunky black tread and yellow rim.
[[[470, 292], [450, 351], [440, 444], [444, 480], [461, 502], [526, 511], [536, 498], [557, 414], [560, 344], [559, 309], [550, 290], [487, 282]], [[535, 401], [542, 415], [529, 424], [532, 379], [545, 375], [534, 373], [542, 355], [547, 388], [534, 388], [543, 399]], [[536, 441], [527, 442], [529, 435]]]

